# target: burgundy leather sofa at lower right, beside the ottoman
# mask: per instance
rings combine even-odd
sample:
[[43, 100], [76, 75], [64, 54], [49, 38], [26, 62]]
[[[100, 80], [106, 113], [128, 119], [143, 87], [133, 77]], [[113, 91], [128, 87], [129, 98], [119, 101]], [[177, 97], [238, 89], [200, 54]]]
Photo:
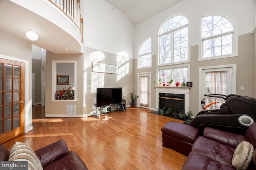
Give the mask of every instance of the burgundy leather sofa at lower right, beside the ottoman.
[[[256, 149], [256, 122], [248, 127], [244, 135], [206, 127], [203, 135], [194, 141], [182, 170], [234, 170], [232, 157], [242, 141], [250, 142]], [[256, 170], [255, 153], [248, 170]]]

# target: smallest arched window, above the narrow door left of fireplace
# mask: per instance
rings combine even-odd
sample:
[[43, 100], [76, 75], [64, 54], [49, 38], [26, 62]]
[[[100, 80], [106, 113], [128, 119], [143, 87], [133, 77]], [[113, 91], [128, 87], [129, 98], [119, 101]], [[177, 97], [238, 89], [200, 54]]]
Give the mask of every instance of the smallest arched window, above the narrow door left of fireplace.
[[140, 46], [138, 68], [151, 67], [151, 64], [151, 37], [149, 37]]

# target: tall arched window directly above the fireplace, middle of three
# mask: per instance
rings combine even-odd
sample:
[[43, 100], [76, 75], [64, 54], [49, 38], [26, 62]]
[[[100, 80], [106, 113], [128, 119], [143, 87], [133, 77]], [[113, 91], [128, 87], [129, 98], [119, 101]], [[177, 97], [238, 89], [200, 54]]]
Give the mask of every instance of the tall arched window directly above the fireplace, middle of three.
[[165, 21], [159, 31], [158, 64], [188, 61], [188, 19], [176, 15]]

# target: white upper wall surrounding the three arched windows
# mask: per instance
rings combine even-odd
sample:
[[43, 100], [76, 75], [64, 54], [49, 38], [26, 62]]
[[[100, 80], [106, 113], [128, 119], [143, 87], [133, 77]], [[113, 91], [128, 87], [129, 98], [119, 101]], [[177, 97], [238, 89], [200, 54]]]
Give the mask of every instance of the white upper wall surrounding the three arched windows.
[[221, 13], [232, 16], [238, 23], [238, 35], [254, 30], [254, 0], [182, 0], [135, 26], [134, 57], [138, 58], [140, 45], [152, 36], [152, 54], [158, 53], [158, 31], [162, 23], [174, 14], [184, 14], [189, 22], [189, 46], [200, 40], [200, 21], [203, 15]]

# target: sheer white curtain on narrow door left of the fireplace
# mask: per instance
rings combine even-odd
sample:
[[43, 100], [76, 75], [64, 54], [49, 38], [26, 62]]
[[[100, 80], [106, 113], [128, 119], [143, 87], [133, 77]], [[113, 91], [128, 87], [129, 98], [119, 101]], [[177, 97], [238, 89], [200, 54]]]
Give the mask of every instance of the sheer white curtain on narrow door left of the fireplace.
[[149, 76], [140, 76], [140, 106], [148, 107]]

